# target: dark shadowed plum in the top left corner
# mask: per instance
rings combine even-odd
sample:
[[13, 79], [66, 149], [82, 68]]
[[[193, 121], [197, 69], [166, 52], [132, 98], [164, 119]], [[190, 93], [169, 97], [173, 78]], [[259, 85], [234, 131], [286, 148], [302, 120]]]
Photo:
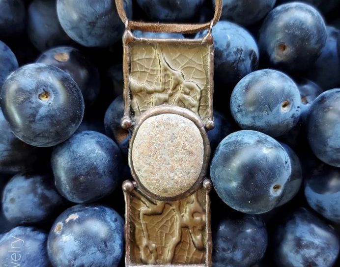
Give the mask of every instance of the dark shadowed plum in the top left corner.
[[26, 9], [23, 0], [0, 0], [0, 39], [19, 37], [26, 27]]

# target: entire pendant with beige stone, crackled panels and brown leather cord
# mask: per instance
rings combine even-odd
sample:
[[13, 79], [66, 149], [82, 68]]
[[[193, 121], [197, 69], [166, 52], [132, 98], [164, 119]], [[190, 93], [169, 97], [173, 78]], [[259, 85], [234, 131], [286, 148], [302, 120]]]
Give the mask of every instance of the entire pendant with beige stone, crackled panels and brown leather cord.
[[[123, 35], [124, 117], [132, 128], [125, 181], [125, 265], [211, 267], [210, 158], [214, 49], [204, 24], [129, 21], [116, 0]], [[136, 38], [132, 29], [194, 33], [201, 39]]]

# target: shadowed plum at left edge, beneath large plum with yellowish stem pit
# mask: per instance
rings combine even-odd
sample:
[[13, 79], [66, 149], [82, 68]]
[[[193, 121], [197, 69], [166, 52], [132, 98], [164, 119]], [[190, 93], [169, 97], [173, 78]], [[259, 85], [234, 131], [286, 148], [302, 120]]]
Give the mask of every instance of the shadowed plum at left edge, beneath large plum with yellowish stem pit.
[[0, 107], [0, 173], [16, 173], [30, 168], [37, 157], [37, 149], [19, 138], [11, 131]]

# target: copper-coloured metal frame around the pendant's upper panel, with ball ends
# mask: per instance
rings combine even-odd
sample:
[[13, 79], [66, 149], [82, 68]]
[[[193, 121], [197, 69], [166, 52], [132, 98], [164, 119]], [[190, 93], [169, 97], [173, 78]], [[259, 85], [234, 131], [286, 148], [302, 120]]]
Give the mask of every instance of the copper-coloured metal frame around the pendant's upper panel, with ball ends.
[[[214, 128], [214, 119], [213, 119], [213, 94], [214, 94], [214, 44], [213, 38], [211, 35], [211, 28], [213, 24], [210, 24], [210, 29], [207, 34], [200, 39], [181, 39], [181, 44], [186, 45], [199, 45], [206, 44], [209, 45], [209, 77], [211, 78], [208, 83], [209, 90], [209, 107], [208, 113], [209, 116], [207, 119], [203, 121], [204, 127], [206, 130], [211, 130]], [[124, 90], [123, 90], [123, 98], [124, 98], [124, 116], [121, 120], [121, 126], [123, 129], [130, 129], [134, 126], [134, 121], [132, 119], [132, 110], [131, 110], [131, 91], [130, 91], [130, 47], [129, 44], [132, 42], [139, 43], [160, 43], [160, 44], [178, 44], [178, 39], [146, 39], [146, 38], [136, 38], [133, 33], [126, 29], [123, 35], [123, 78], [124, 78]]]

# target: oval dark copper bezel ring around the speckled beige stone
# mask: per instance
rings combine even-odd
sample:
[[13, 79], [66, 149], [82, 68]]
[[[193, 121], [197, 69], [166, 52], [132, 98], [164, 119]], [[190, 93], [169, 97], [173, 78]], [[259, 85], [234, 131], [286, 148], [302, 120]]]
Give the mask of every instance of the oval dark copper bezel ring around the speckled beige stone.
[[[148, 189], [146, 189], [142, 183], [139, 180], [138, 175], [136, 174], [136, 171], [134, 169], [134, 165], [133, 165], [133, 160], [132, 160], [132, 147], [136, 138], [136, 135], [138, 133], [138, 130], [140, 128], [140, 126], [142, 125], [142, 123], [152, 117], [152, 116], [157, 116], [160, 114], [177, 114], [180, 116], [183, 116], [189, 120], [191, 120], [192, 122], [195, 123], [195, 125], [197, 126], [202, 139], [203, 139], [203, 164], [202, 164], [202, 168], [200, 171], [200, 174], [198, 176], [197, 181], [195, 182], [195, 184], [190, 187], [187, 191], [185, 191], [184, 193], [177, 195], [177, 196], [173, 196], [173, 197], [161, 197], [158, 196], [156, 194], [153, 194], [152, 192], [150, 192]], [[206, 134], [206, 131], [204, 129], [204, 126], [202, 124], [201, 119], [198, 117], [198, 115], [196, 115], [194, 112], [184, 108], [184, 107], [177, 107], [177, 106], [171, 106], [171, 105], [161, 105], [161, 106], [156, 106], [156, 107], [152, 107], [150, 109], [148, 109], [147, 111], [145, 111], [142, 116], [140, 117], [134, 131], [133, 134], [131, 136], [130, 139], [130, 145], [129, 145], [129, 153], [128, 153], [128, 162], [129, 162], [129, 166], [131, 169], [131, 174], [132, 177], [134, 178], [134, 180], [137, 182], [139, 190], [141, 190], [144, 194], [157, 199], [157, 200], [161, 200], [161, 201], [176, 201], [176, 200], [180, 200], [186, 196], [191, 195], [193, 192], [195, 192], [199, 186], [201, 185], [202, 181], [205, 178], [206, 175], [206, 170], [208, 168], [209, 165], [209, 159], [210, 159], [210, 142], [209, 142], [209, 138], [208, 135]]]

